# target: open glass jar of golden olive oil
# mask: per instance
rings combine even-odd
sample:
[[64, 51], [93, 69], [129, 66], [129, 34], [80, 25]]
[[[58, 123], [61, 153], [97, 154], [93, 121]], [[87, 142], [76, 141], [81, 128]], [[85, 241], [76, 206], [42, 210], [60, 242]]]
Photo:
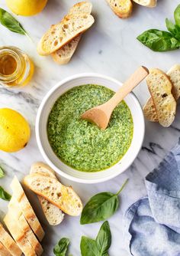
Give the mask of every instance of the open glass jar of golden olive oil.
[[31, 59], [15, 47], [0, 48], [0, 84], [8, 87], [26, 85], [34, 74]]

